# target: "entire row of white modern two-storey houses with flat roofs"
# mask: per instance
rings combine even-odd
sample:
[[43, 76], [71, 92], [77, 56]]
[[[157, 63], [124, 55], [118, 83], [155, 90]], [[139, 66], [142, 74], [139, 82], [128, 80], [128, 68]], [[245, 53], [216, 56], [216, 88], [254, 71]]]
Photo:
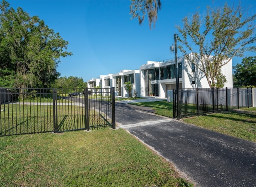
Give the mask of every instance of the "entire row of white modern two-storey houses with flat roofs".
[[[208, 81], [197, 67], [199, 62], [191, 63], [185, 57], [178, 57], [179, 87], [180, 88], [209, 88]], [[167, 97], [167, 91], [176, 89], [176, 63], [175, 59], [164, 61], [147, 61], [139, 70], [121, 70], [118, 73], [100, 75], [100, 78], [90, 79], [88, 88], [100, 86], [101, 89], [115, 88], [116, 96], [133, 96], [134, 91], [138, 97], [154, 96]], [[221, 68], [227, 82], [224, 87], [233, 87], [232, 59]], [[132, 84], [132, 91], [126, 91], [125, 82]], [[103, 90], [102, 90], [103, 91]]]

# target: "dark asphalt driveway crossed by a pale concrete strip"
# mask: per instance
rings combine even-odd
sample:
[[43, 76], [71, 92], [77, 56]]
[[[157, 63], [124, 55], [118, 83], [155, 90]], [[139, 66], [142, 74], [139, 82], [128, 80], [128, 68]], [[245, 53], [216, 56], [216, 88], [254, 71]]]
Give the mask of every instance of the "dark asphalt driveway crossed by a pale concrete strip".
[[116, 122], [198, 187], [256, 187], [256, 143], [116, 103]]

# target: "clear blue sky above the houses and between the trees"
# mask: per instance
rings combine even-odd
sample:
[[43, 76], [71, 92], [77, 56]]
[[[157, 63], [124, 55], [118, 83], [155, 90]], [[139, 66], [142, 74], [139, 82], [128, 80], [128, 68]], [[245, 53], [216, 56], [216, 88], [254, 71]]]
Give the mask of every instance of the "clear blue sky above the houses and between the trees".
[[[63, 76], [89, 79], [118, 73], [123, 69], [139, 69], [147, 61], [174, 57], [169, 47], [174, 43], [175, 26], [189, 13], [206, 10], [206, 6], [223, 6], [222, 0], [162, 0], [156, 27], [150, 30], [147, 20], [142, 26], [131, 20], [129, 0], [7, 0], [15, 10], [21, 7], [30, 16], [39, 16], [45, 24], [69, 42], [73, 53], [61, 59], [57, 71]], [[239, 1], [227, 1], [237, 5]], [[255, 0], [241, 0], [242, 6]], [[178, 56], [182, 55], [178, 51]], [[255, 56], [245, 53], [244, 56]], [[233, 65], [242, 58], [234, 58]]]

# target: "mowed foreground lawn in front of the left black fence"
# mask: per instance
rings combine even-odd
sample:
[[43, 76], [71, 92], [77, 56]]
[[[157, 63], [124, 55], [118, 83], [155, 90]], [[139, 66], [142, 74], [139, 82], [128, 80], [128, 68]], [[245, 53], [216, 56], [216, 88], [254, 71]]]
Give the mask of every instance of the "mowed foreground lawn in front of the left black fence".
[[0, 137], [0, 186], [193, 186], [123, 129]]

